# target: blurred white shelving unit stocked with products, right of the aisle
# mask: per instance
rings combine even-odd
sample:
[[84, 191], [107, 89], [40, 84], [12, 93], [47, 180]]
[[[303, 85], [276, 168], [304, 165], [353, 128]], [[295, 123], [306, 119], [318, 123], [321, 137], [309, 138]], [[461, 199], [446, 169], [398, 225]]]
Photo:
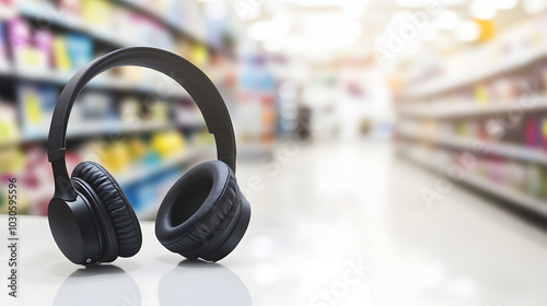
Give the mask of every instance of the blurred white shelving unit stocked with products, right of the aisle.
[[488, 39], [408, 64], [403, 74], [414, 76], [397, 95], [397, 152], [547, 217], [547, 12], [517, 20]]

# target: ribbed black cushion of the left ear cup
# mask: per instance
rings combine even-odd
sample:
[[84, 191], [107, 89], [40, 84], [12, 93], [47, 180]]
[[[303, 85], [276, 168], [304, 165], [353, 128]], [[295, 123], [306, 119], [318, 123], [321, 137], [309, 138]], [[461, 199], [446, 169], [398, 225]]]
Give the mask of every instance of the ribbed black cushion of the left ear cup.
[[119, 245], [120, 257], [136, 255], [142, 245], [142, 234], [135, 211], [124, 190], [112, 175], [100, 164], [82, 162], [72, 170], [72, 176], [85, 180], [96, 192], [108, 211]]

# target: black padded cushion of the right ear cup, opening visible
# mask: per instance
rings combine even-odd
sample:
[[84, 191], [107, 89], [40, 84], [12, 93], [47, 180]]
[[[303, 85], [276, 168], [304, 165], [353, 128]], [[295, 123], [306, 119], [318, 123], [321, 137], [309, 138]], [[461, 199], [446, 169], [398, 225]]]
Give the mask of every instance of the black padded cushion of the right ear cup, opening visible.
[[243, 197], [232, 169], [210, 161], [188, 170], [165, 196], [155, 235], [168, 250], [195, 259], [208, 240], [220, 236], [240, 209]]

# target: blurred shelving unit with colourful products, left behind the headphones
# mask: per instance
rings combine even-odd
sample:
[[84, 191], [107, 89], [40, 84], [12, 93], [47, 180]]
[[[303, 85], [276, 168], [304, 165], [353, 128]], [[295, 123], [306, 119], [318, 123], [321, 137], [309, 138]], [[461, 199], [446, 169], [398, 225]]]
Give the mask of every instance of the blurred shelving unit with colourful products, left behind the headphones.
[[[236, 102], [241, 96], [240, 62], [229, 26], [235, 19], [233, 12], [212, 20], [205, 12], [206, 4], [175, 0], [0, 1], [0, 179], [16, 176], [22, 181], [28, 195], [20, 201], [22, 213], [45, 214], [53, 193], [45, 151], [60, 90], [81, 67], [110, 50], [153, 46], [179, 54], [219, 87], [234, 126], [246, 120], [238, 119], [238, 114], [264, 117], [253, 115], [256, 109], [245, 110], [248, 101]], [[269, 108], [260, 111], [275, 109], [275, 97], [269, 98]], [[212, 138], [188, 93], [146, 69], [117, 68], [92, 80], [74, 104], [70, 120], [69, 170], [88, 156], [97, 157], [118, 178], [141, 217], [155, 214], [158, 199], [188, 166], [214, 156], [209, 150], [213, 149]], [[241, 148], [269, 148], [270, 141], [254, 142], [261, 138], [248, 138]], [[275, 136], [270, 138], [272, 142]], [[4, 210], [0, 200], [0, 212]]]

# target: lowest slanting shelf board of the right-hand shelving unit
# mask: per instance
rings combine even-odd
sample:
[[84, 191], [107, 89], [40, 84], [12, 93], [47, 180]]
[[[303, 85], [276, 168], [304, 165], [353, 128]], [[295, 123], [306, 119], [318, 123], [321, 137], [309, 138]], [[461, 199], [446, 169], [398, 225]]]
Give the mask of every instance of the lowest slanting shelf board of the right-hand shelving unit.
[[[403, 152], [408, 152], [411, 150], [408, 149], [403, 149]], [[446, 168], [445, 165], [439, 165], [433, 162], [431, 162], [428, 158], [421, 157], [421, 156], [416, 156], [415, 154], [405, 154], [405, 157], [408, 158], [409, 161], [421, 165], [423, 167], [430, 168], [430, 169], [444, 169]], [[507, 186], [499, 185], [491, 183], [485, 178], [481, 178], [477, 175], [474, 174], [466, 174], [464, 177], [462, 177], [457, 183], [463, 183], [466, 185], [469, 185], [472, 187], [478, 188], [482, 191], [486, 191], [490, 195], [493, 195], [496, 197], [499, 197], [501, 199], [508, 200], [511, 203], [526, 209], [528, 211], [535, 212], [544, 217], [547, 217], [547, 202], [534, 199], [529, 196], [526, 196], [522, 192], [512, 190], [511, 188], [508, 188]]]

